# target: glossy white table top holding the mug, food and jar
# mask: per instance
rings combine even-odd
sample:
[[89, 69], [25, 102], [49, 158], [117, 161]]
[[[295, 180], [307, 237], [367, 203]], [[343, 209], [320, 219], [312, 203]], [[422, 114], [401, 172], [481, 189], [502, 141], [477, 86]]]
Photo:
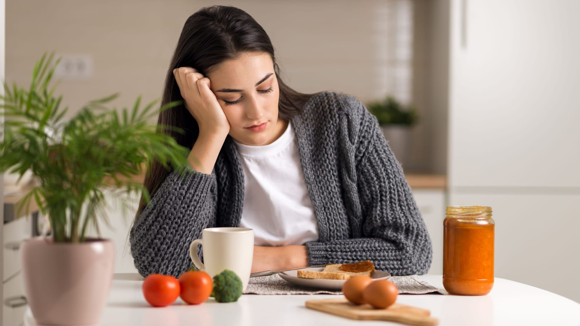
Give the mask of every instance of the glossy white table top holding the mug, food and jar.
[[[422, 280], [443, 288], [441, 275]], [[242, 295], [237, 302], [218, 303], [209, 298], [201, 305], [155, 308], [141, 292], [139, 274], [115, 274], [101, 325], [361, 325], [361, 321], [333, 316], [305, 307], [306, 300], [337, 298], [337, 295]], [[431, 311], [440, 325], [580, 325], [580, 303], [519, 282], [495, 278], [491, 293], [484, 296], [440, 294], [399, 295], [398, 303]], [[30, 308], [24, 325], [36, 325]], [[401, 325], [387, 321], [364, 321], [365, 326]]]

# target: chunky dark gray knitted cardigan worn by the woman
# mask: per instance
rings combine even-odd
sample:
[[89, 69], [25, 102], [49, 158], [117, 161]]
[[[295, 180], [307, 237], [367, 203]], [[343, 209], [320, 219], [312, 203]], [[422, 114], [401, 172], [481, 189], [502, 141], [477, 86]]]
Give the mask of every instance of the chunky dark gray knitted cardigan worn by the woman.
[[[318, 241], [305, 243], [310, 265], [369, 259], [393, 275], [425, 274], [431, 240], [376, 118], [356, 97], [323, 92], [291, 121], [318, 221]], [[211, 175], [184, 172], [169, 173], [131, 228], [142, 276], [179, 276], [202, 229], [240, 224], [244, 172], [230, 136]]]

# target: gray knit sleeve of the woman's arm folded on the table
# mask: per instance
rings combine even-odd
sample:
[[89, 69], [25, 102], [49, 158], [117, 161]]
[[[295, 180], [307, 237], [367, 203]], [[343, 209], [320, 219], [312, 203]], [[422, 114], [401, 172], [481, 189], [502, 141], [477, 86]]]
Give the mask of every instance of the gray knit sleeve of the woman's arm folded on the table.
[[[362, 104], [361, 104], [362, 105]], [[307, 242], [309, 263], [371, 260], [393, 275], [425, 274], [432, 245], [403, 169], [380, 131], [376, 118], [362, 107], [358, 137], [357, 191], [362, 237]]]

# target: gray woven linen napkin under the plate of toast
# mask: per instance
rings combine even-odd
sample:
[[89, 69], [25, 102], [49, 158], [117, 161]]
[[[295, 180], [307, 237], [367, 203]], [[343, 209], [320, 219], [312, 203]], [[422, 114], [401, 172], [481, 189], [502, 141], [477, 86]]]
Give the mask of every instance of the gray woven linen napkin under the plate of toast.
[[[391, 276], [389, 281], [397, 285], [399, 293], [427, 294], [436, 292], [447, 294], [444, 289], [438, 289], [433, 285], [420, 280], [419, 276]], [[299, 287], [281, 278], [278, 274], [252, 277], [244, 294], [342, 294], [342, 291], [326, 289], [313, 289]]]

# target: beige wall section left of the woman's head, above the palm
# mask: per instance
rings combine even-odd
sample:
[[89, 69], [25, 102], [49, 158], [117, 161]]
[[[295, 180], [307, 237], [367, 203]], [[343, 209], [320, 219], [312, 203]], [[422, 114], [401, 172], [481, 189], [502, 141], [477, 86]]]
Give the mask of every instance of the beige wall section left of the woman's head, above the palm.
[[93, 78], [59, 86], [70, 114], [87, 100], [115, 92], [121, 92], [118, 106], [129, 106], [139, 94], [153, 100], [161, 95], [172, 48], [193, 7], [142, 0], [8, 0], [6, 79], [28, 85], [45, 51], [90, 54]]

